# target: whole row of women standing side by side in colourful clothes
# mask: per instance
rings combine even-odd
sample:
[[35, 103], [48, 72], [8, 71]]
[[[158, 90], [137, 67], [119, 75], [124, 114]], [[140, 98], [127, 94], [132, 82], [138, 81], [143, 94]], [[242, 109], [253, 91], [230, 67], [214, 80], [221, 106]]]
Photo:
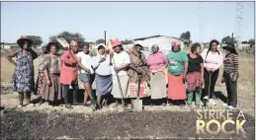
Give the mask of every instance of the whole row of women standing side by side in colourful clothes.
[[[215, 105], [214, 85], [222, 63], [224, 69], [221, 81], [226, 84], [228, 96], [224, 105], [228, 108], [236, 107], [238, 55], [233, 44], [224, 47], [226, 54], [223, 58], [222, 53], [217, 50], [218, 41], [214, 39], [210, 42], [209, 49], [203, 52], [201, 44], [194, 43], [189, 54], [181, 50], [180, 41], [173, 41], [172, 51], [167, 56], [158, 51], [158, 45], [154, 44], [148, 57], [140, 51], [142, 45], [134, 44], [127, 52], [119, 39], [111, 40], [114, 51], [107, 51], [104, 44], [99, 44], [96, 56], [90, 54], [88, 43], [79, 47], [76, 40], [71, 40], [69, 49], [65, 50], [61, 57], [56, 55], [59, 46], [55, 42], [43, 42], [40, 56], [32, 49], [33, 41], [27, 36], [19, 38], [17, 43], [20, 46], [18, 50], [8, 56], [16, 65], [13, 90], [19, 93], [18, 107], [24, 105], [24, 94], [27, 105], [33, 105], [32, 92], [40, 97], [41, 104], [64, 104], [67, 108], [80, 105], [78, 79], [85, 89], [83, 105], [93, 105], [95, 108], [102, 107], [103, 99], [108, 105], [109, 95], [116, 99], [116, 106], [123, 99], [128, 101], [127, 106], [132, 108], [132, 100], [137, 96], [151, 98], [152, 101], [167, 98], [168, 103], [174, 105], [187, 103], [192, 106], [196, 94], [195, 103], [200, 106], [200, 91], [203, 85], [209, 95], [205, 99]], [[11, 59], [15, 56], [16, 62]], [[33, 60], [36, 58], [39, 59], [39, 76], [35, 86]], [[96, 99], [92, 94], [94, 80]], [[70, 86], [73, 100], [69, 94]]]

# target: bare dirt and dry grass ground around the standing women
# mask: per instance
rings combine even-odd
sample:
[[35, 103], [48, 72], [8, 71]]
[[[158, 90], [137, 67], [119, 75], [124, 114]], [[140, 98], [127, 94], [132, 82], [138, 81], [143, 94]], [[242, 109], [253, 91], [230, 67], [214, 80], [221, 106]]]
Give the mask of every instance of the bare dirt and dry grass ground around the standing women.
[[[102, 110], [91, 107], [47, 104], [24, 106], [18, 109], [18, 95], [10, 87], [14, 66], [1, 57], [1, 139], [143, 139], [143, 138], [237, 138], [254, 139], [254, 57], [240, 56], [238, 105], [245, 113], [246, 135], [196, 135], [196, 108], [177, 105], [144, 105], [143, 112], [122, 112], [122, 106], [110, 105]], [[35, 72], [37, 77], [37, 60]], [[215, 86], [215, 106], [224, 109], [225, 85]], [[93, 86], [95, 88], [95, 85]], [[33, 96], [36, 101], [37, 97]], [[122, 125], [119, 125], [122, 124]]]

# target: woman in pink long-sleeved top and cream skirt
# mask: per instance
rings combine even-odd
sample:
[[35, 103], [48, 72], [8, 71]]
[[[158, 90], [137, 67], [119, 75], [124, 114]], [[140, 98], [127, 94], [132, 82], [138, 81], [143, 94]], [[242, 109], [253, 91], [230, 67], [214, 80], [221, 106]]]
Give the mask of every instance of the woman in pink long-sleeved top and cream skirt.
[[157, 44], [151, 48], [152, 54], [147, 57], [147, 65], [150, 74], [151, 99], [159, 100], [166, 98], [166, 84], [168, 82], [166, 55], [159, 50]]

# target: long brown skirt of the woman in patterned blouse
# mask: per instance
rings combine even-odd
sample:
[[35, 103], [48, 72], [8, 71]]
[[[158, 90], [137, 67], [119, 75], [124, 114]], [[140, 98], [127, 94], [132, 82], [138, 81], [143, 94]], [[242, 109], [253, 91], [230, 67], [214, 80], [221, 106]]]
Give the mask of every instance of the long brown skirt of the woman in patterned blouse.
[[62, 92], [59, 84], [59, 74], [49, 74], [50, 86], [47, 85], [46, 78], [43, 77], [42, 99], [44, 101], [56, 102], [62, 100]]

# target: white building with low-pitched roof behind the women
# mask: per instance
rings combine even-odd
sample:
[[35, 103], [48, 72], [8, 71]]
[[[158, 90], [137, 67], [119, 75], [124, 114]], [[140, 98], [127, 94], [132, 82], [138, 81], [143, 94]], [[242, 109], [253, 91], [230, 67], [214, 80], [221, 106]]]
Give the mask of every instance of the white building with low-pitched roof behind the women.
[[174, 37], [174, 36], [166, 36], [166, 35], [152, 35], [140, 38], [134, 38], [134, 43], [139, 43], [145, 47], [145, 49], [150, 49], [153, 44], [158, 44], [159, 49], [161, 51], [170, 51], [171, 50], [171, 42], [174, 40], [181, 41], [181, 49], [184, 50], [184, 40]]

